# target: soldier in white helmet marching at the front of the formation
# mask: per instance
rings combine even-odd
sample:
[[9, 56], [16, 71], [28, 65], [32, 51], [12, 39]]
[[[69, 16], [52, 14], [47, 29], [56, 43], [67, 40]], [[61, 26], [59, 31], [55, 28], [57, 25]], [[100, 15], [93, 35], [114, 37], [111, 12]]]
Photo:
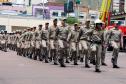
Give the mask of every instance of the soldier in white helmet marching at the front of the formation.
[[101, 20], [95, 21], [95, 29], [92, 31], [91, 36], [91, 51], [95, 52], [95, 72], [101, 72], [100, 63], [101, 63], [101, 53], [102, 53], [102, 44], [103, 44], [103, 31], [102, 31]]

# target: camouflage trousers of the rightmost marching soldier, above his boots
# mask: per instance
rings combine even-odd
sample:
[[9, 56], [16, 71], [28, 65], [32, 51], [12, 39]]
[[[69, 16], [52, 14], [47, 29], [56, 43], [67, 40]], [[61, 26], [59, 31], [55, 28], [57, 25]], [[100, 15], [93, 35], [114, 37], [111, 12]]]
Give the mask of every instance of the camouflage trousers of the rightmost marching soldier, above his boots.
[[111, 45], [113, 47], [113, 55], [112, 55], [112, 58], [114, 59], [113, 65], [117, 65], [120, 42], [111, 41]]

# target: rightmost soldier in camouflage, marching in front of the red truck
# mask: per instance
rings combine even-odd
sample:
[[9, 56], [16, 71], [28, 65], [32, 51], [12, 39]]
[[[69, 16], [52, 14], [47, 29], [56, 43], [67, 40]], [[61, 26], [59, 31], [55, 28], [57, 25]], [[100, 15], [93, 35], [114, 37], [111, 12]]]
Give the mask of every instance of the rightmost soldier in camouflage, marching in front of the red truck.
[[[118, 54], [119, 54], [119, 49], [122, 46], [122, 32], [119, 30], [119, 24], [115, 23], [115, 27], [110, 30], [110, 42], [113, 47], [113, 54], [112, 54], [112, 64], [113, 68], [120, 68], [117, 65], [117, 60], [118, 60]], [[120, 46], [121, 44], [121, 46]]]

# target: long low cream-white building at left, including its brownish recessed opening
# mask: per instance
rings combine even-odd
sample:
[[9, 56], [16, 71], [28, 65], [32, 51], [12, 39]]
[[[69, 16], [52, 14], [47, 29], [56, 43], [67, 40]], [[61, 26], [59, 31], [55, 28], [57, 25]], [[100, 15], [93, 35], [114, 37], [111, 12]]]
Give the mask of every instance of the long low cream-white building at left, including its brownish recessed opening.
[[52, 20], [42, 20], [34, 17], [0, 15], [0, 31], [6, 30], [10, 33], [15, 30], [24, 30], [28, 27], [37, 27], [40, 24], [45, 25], [46, 22], [49, 22], [50, 25], [53, 24]]

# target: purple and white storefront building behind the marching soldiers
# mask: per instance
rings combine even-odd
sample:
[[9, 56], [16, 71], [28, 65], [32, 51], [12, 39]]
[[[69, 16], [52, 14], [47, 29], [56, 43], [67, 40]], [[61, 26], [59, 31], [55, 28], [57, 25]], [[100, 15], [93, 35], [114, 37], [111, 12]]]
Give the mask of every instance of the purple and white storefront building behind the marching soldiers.
[[33, 16], [44, 17], [46, 19], [65, 17], [64, 5], [58, 3], [51, 3], [45, 6], [33, 5]]

